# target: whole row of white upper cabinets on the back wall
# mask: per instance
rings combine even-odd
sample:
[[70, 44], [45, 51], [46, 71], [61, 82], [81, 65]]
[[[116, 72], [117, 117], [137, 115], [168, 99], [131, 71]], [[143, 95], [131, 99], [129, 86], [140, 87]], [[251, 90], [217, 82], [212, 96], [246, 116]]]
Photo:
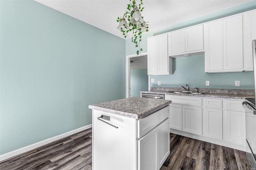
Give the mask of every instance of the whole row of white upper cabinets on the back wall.
[[206, 73], [253, 71], [256, 10], [148, 38], [148, 75], [172, 74], [172, 58], [205, 54]]

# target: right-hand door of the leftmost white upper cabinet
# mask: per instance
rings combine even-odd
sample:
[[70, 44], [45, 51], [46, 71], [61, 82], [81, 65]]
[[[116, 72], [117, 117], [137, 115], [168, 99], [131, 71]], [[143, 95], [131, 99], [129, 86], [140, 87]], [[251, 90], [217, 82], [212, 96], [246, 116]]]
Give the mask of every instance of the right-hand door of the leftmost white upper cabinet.
[[168, 34], [158, 36], [158, 74], [168, 74]]

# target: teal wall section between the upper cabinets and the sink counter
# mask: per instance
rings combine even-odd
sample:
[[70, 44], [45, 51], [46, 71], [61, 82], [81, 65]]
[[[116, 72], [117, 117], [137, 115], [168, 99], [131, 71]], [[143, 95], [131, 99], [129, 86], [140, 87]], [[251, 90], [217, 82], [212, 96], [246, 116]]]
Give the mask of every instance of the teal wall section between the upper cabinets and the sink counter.
[[[150, 76], [155, 79], [151, 87], [188, 87], [213, 89], [254, 89], [253, 72], [238, 73], [205, 73], [204, 55], [181, 57], [173, 59], [173, 75]], [[210, 81], [210, 86], [205, 81]], [[235, 87], [235, 81], [240, 80], [240, 86]], [[161, 81], [161, 86], [157, 82]]]

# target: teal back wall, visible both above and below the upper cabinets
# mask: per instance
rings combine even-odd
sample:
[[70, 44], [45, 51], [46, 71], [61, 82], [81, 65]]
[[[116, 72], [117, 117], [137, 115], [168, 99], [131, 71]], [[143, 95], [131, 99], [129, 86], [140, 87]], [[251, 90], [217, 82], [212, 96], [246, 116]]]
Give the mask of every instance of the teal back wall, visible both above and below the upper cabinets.
[[[143, 51], [147, 51], [147, 38], [156, 36], [166, 32], [186, 28], [196, 24], [201, 24], [218, 18], [238, 14], [248, 10], [256, 9], [256, 0], [228, 8], [219, 12], [215, 12], [206, 16], [201, 16], [193, 20], [175, 24], [173, 26], [162, 28], [160, 30], [143, 33], [140, 43]], [[171, 13], [170, 13], [171, 14]], [[150, 21], [149, 21], [150, 23]], [[149, 24], [150, 30], [150, 24]], [[136, 53], [137, 49], [131, 43], [131, 39], [126, 40], [126, 55]], [[216, 89], [254, 89], [253, 72], [240, 73], [205, 73], [204, 72], [204, 55], [181, 57], [173, 60], [174, 74], [173, 75], [158, 75], [150, 76], [155, 79], [155, 83], [151, 83], [151, 87], [180, 87], [188, 84], [194, 88], [216, 88]], [[205, 86], [205, 81], [210, 81], [210, 86]], [[235, 80], [240, 80], [240, 87], [235, 87]], [[161, 81], [158, 86], [157, 82]]]

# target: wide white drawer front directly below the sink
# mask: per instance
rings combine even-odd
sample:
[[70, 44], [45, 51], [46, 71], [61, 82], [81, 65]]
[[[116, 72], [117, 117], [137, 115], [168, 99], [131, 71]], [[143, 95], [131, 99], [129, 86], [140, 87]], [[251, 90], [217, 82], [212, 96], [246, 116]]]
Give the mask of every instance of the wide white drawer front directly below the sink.
[[202, 106], [202, 97], [165, 95], [166, 100], [171, 100], [174, 104]]

